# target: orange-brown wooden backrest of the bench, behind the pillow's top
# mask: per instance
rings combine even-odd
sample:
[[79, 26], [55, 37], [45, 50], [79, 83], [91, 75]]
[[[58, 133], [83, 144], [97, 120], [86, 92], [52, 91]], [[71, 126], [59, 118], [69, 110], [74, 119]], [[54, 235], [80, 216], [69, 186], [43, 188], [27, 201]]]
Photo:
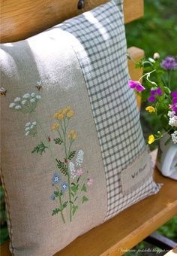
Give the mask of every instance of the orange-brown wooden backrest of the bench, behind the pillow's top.
[[[2, 1], [1, 43], [28, 38], [105, 2], [108, 0], [87, 0], [85, 8], [78, 10], [78, 0]], [[142, 16], [143, 0], [124, 0], [125, 23]]]

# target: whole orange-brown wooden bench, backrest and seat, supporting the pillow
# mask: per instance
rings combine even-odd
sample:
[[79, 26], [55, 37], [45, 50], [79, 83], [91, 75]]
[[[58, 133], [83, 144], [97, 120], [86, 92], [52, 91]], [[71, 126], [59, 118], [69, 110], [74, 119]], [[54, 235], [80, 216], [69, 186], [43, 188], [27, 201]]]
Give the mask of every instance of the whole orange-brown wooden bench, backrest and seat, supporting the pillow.
[[[6, 0], [1, 4], [1, 42], [17, 41], [37, 34], [57, 23], [87, 11], [106, 0], [88, 0], [85, 8], [79, 11], [78, 0]], [[124, 0], [124, 21], [128, 23], [143, 15], [142, 0]], [[133, 59], [138, 60], [144, 52], [136, 47], [128, 49]], [[136, 80], [142, 70], [135, 70], [128, 61], [131, 77]], [[139, 99], [138, 99], [139, 104]], [[139, 104], [140, 105], [140, 104]], [[152, 153], [155, 162], [157, 151]], [[175, 181], [160, 175], [154, 169], [154, 179], [163, 183], [160, 192], [130, 206], [115, 218], [95, 227], [68, 245], [58, 256], [106, 256], [121, 255], [146, 236], [157, 230], [177, 213], [177, 194]], [[1, 255], [11, 255], [8, 242], [1, 245]]]

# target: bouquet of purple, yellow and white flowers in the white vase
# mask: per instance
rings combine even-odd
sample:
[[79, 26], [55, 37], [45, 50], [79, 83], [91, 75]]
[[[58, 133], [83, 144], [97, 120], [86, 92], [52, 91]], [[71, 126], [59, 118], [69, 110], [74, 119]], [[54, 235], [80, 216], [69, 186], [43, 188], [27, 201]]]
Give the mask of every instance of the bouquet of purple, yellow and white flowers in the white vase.
[[148, 144], [162, 138], [166, 133], [169, 134], [166, 144], [170, 140], [177, 144], [177, 87], [172, 82], [177, 69], [177, 58], [167, 56], [160, 59], [159, 53], [154, 53], [153, 58], [136, 62], [136, 68], [143, 68], [144, 75], [139, 81], [128, 81], [129, 87], [136, 94], [141, 94], [142, 102], [146, 105], [145, 111], [152, 118], [157, 117], [160, 124], [160, 130], [148, 136]]

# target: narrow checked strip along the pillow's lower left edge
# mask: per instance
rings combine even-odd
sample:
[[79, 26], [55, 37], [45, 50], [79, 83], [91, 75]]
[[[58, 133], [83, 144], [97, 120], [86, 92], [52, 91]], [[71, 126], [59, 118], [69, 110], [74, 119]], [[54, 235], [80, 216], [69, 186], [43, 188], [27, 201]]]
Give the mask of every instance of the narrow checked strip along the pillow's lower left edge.
[[7, 190], [5, 187], [5, 178], [4, 175], [2, 174], [2, 169], [0, 171], [0, 175], [1, 175], [1, 184], [3, 189], [5, 190], [5, 209], [6, 209], [6, 213], [7, 213], [7, 228], [8, 228], [8, 232], [9, 232], [9, 236], [10, 236], [10, 251], [11, 253], [14, 255], [14, 247], [13, 247], [13, 230], [12, 230], [12, 221], [11, 221], [11, 217], [10, 217], [10, 204], [9, 204], [9, 199], [8, 199], [8, 194], [7, 194]]

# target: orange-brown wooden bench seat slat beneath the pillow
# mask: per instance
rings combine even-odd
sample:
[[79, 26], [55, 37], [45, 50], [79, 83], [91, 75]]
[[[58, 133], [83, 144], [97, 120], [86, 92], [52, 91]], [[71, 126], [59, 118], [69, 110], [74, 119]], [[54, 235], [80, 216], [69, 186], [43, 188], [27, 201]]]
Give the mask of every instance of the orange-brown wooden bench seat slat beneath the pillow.
[[[154, 157], [155, 157], [154, 152]], [[165, 178], [155, 169], [154, 179], [163, 183], [160, 192], [130, 206], [110, 221], [95, 227], [55, 256], [118, 256], [130, 249], [177, 214], [176, 181]], [[1, 254], [9, 256], [7, 242]]]

